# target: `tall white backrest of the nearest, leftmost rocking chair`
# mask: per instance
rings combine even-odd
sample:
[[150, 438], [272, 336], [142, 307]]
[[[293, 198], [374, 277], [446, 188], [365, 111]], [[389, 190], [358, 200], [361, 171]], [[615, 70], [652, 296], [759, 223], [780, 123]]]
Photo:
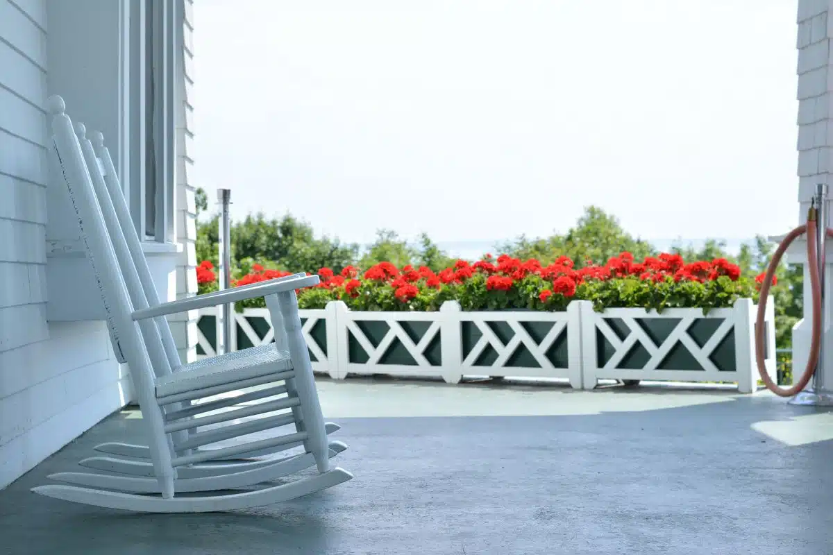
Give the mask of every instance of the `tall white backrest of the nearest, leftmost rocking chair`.
[[131, 295], [127, 290], [125, 276], [119, 271], [116, 250], [104, 223], [104, 215], [98, 204], [92, 177], [84, 162], [81, 144], [72, 130], [72, 121], [64, 113], [66, 107], [61, 97], [50, 97], [47, 104], [52, 114], [52, 143], [61, 166], [63, 181], [78, 218], [87, 258], [101, 290], [107, 321], [114, 338], [122, 347], [127, 363], [130, 364], [139, 403], [153, 403], [155, 376], [147, 346], [142, 339], [148, 334], [142, 333], [144, 330], [141, 330], [142, 327], [153, 324], [148, 320], [137, 323], [132, 319], [134, 307]]

